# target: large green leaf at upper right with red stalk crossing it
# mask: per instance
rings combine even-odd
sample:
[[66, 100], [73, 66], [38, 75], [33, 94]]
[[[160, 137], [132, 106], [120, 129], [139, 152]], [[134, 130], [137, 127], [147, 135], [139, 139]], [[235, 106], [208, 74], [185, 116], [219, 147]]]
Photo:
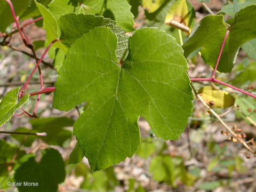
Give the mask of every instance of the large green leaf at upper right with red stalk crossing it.
[[[256, 37], [255, 10], [256, 5], [251, 5], [237, 12], [234, 22], [229, 27], [230, 32], [222, 51], [218, 71], [230, 73], [239, 47]], [[227, 29], [223, 22], [223, 15], [204, 17], [182, 46], [185, 57], [187, 58], [191, 52], [202, 47], [202, 58], [205, 63], [214, 68]]]

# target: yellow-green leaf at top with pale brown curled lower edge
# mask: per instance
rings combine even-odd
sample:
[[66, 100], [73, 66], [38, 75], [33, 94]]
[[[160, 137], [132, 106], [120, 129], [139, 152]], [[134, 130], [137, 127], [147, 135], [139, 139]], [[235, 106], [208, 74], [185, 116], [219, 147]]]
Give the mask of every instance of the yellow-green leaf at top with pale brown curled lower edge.
[[183, 31], [191, 31], [195, 21], [195, 10], [186, 0], [173, 3], [165, 18], [165, 23]]

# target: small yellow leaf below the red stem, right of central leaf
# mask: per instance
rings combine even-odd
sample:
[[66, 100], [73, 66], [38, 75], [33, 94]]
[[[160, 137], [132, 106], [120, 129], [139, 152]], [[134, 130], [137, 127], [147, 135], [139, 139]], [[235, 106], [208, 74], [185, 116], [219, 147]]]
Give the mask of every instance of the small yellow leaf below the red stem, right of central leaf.
[[204, 101], [214, 108], [228, 108], [234, 105], [235, 98], [227, 91], [215, 90], [212, 86], [205, 86], [198, 93], [202, 94]]

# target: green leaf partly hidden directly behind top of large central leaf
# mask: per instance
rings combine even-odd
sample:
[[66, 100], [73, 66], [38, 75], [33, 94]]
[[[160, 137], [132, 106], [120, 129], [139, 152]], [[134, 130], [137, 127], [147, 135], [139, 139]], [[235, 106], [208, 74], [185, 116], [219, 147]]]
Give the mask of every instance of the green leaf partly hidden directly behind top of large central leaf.
[[60, 38], [64, 39], [65, 42], [69, 42], [67, 46], [70, 46], [77, 38], [82, 37], [83, 34], [88, 33], [95, 27], [109, 27], [117, 35], [117, 59], [118, 61], [125, 59], [129, 37], [125, 35], [125, 31], [122, 28], [115, 25], [115, 21], [103, 18], [102, 16], [71, 13], [60, 17], [58, 23], [61, 30]]

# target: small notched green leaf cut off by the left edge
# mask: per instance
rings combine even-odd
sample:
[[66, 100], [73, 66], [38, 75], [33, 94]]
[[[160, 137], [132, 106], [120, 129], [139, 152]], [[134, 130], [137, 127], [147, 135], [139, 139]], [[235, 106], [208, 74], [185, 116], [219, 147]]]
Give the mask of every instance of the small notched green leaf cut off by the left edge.
[[28, 101], [29, 94], [24, 95], [18, 100], [19, 90], [20, 88], [17, 87], [9, 91], [2, 99], [0, 103], [0, 126], [9, 121], [14, 112]]

